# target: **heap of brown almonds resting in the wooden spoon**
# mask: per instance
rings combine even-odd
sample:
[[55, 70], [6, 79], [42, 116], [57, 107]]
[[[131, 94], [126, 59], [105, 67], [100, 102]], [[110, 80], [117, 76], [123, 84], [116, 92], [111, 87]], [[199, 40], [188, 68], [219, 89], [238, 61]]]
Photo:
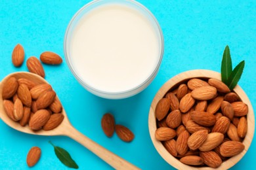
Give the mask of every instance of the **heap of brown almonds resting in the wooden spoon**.
[[21, 126], [45, 131], [59, 126], [64, 119], [62, 105], [50, 84], [35, 84], [26, 78], [10, 77], [3, 85], [5, 112]]

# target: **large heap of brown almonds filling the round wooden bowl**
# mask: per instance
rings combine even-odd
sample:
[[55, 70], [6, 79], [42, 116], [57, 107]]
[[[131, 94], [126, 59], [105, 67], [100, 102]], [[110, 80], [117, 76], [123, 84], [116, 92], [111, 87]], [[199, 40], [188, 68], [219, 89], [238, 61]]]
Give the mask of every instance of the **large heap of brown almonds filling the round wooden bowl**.
[[155, 137], [182, 163], [217, 168], [244, 150], [247, 113], [221, 80], [192, 78], [158, 102]]

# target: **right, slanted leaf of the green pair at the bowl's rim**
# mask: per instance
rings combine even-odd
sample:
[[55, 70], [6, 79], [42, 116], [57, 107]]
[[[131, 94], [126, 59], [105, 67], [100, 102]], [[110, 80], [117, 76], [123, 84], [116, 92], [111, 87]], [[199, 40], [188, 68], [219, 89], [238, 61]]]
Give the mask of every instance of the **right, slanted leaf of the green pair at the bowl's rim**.
[[228, 78], [228, 88], [230, 88], [230, 90], [233, 90], [236, 84], [238, 84], [238, 81], [244, 71], [244, 65], [245, 61], [241, 61], [230, 74], [230, 77]]

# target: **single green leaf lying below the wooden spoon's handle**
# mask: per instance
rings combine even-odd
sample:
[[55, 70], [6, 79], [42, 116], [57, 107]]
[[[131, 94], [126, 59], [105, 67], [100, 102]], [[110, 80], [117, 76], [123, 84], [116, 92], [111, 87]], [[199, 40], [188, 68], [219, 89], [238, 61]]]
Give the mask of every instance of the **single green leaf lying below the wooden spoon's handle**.
[[54, 146], [51, 141], [49, 141], [49, 143], [53, 145], [56, 156], [64, 165], [66, 165], [67, 167], [72, 167], [74, 169], [79, 168], [75, 161], [71, 158], [70, 154], [66, 150], [64, 150], [64, 148]]

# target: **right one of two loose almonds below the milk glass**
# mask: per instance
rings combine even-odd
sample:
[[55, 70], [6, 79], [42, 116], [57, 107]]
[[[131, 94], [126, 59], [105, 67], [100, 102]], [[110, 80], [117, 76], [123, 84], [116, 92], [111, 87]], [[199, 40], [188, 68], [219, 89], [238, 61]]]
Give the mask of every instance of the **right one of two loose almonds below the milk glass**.
[[116, 129], [116, 134], [117, 134], [117, 136], [121, 139], [121, 140], [123, 140], [123, 141], [125, 141], [125, 142], [131, 142], [131, 141], [133, 141], [133, 139], [134, 139], [134, 134], [133, 134], [133, 132], [132, 131], [130, 131], [130, 129], [128, 129], [127, 127], [125, 127], [125, 126], [122, 126], [122, 125], [116, 125], [116, 127], [115, 127], [115, 129]]

